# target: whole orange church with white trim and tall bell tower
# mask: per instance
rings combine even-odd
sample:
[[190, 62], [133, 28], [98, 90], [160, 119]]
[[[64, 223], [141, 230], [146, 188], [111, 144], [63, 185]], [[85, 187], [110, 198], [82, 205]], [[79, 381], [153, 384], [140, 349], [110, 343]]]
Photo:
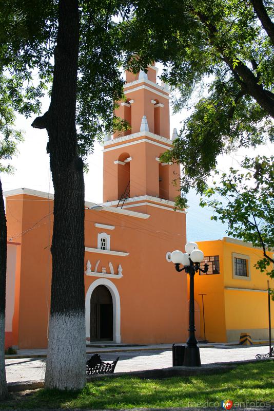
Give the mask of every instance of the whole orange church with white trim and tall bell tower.
[[[182, 342], [187, 278], [169, 259], [186, 243], [185, 212], [174, 211], [173, 202], [178, 188], [172, 181], [180, 170], [159, 161], [172, 145], [168, 90], [156, 84], [155, 67], [127, 73], [126, 80], [126, 101], [116, 114], [131, 129], [106, 137], [104, 202], [85, 203], [86, 340]], [[5, 195], [8, 238], [17, 243], [12, 345], [45, 348], [53, 195], [29, 189]]]

